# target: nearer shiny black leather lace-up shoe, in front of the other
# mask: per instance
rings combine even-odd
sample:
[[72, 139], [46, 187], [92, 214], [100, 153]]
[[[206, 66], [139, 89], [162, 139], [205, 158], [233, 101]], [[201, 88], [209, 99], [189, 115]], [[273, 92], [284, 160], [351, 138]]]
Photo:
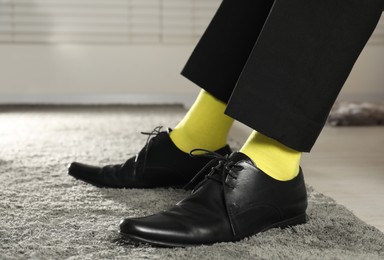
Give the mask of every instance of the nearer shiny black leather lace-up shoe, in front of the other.
[[205, 180], [176, 206], [122, 220], [122, 238], [156, 246], [196, 246], [234, 242], [270, 228], [306, 222], [301, 169], [293, 180], [277, 181], [242, 153], [217, 156], [206, 168], [212, 164], [216, 166]]

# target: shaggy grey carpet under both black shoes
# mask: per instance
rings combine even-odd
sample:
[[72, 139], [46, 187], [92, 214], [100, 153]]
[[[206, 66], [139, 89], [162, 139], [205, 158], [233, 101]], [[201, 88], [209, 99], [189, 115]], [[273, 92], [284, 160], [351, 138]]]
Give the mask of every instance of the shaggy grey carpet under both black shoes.
[[[119, 242], [120, 219], [186, 196], [173, 189], [98, 189], [66, 173], [72, 160], [119, 163], [140, 131], [173, 126], [181, 107], [0, 107], [1, 259], [384, 259], [384, 234], [311, 188], [310, 221], [238, 243], [165, 249]], [[235, 147], [235, 141], [231, 141]]]

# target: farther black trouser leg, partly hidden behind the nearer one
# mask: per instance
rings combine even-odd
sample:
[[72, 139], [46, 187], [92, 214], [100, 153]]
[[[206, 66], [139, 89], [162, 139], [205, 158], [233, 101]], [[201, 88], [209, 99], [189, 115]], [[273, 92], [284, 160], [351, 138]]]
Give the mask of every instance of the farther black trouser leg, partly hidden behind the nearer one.
[[227, 103], [273, 0], [224, 0], [181, 74]]

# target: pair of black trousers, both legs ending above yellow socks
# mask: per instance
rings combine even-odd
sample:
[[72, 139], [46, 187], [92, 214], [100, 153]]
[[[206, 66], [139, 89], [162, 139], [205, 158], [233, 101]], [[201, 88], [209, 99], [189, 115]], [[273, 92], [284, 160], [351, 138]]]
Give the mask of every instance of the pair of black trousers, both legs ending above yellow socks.
[[226, 114], [308, 152], [383, 0], [224, 0], [182, 75]]

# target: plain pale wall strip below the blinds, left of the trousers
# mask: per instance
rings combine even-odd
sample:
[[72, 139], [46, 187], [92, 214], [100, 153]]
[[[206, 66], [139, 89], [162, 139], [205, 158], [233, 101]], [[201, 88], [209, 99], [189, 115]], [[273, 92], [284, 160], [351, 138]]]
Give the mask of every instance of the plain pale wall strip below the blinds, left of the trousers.
[[0, 45], [0, 103], [189, 102], [192, 47]]

